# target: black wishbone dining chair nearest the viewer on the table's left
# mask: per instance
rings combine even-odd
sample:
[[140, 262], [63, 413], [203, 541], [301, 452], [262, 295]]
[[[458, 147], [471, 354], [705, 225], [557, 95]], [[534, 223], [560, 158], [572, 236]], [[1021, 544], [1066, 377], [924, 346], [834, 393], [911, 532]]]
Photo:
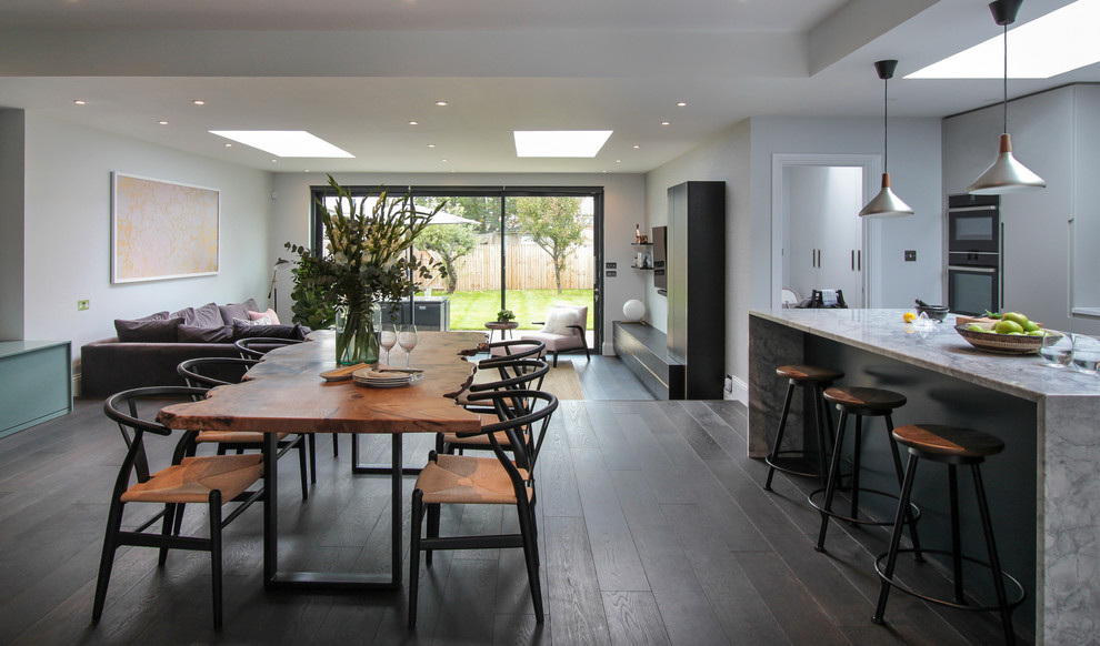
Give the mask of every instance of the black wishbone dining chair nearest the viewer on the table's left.
[[[164, 566], [169, 549], [209, 552], [213, 625], [214, 628], [221, 627], [221, 531], [252, 503], [262, 498], [263, 488], [250, 489], [263, 477], [262, 457], [258, 454], [196, 457], [194, 431], [172, 431], [154, 422], [151, 415], [143, 414], [143, 411], [150, 410], [148, 404], [139, 410], [139, 402], [153, 400], [151, 410], [157, 411], [164, 403], [189, 401], [203, 393], [204, 388], [152, 386], [117, 393], [103, 404], [103, 412], [119, 425], [127, 452], [111, 492], [103, 552], [96, 581], [92, 622], [99, 622], [103, 615], [114, 553], [123, 545], [134, 545], [160, 549], [160, 567]], [[181, 437], [176, 444], [171, 463], [159, 471], [151, 471], [146, 452], [147, 438], [169, 437], [173, 433], [179, 433]], [[240, 504], [223, 516], [222, 506], [230, 502]], [[122, 516], [130, 503], [152, 503], [163, 505], [164, 508], [136, 529], [123, 529]], [[210, 518], [208, 537], [180, 536], [183, 507], [188, 504], [207, 506]], [[158, 521], [161, 521], [160, 533], [147, 532]]]

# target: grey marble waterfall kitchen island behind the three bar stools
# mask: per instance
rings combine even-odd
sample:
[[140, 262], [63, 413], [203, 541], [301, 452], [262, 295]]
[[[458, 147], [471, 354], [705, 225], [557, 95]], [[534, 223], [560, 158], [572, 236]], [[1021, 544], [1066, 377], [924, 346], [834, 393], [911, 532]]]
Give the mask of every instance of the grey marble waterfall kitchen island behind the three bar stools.
[[[909, 403], [894, 415], [898, 425], [954, 424], [998, 435], [1007, 448], [982, 473], [1002, 566], [1029, 596], [1014, 617], [1030, 624], [1033, 615], [1037, 643], [1100, 643], [1100, 380], [1047, 367], [1034, 355], [978, 351], [956, 333], [952, 315], [922, 334], [902, 323], [903, 312], [750, 312], [749, 454], [767, 454], [787, 388], [776, 367], [794, 363], [844, 371], [838, 385], [904, 394]], [[801, 413], [792, 410], [791, 428], [801, 427]], [[872, 472], [864, 482], [889, 491], [897, 483], [887, 444], [874, 437], [884, 433], [880, 424], [864, 440], [864, 466]], [[812, 435], [789, 435], [812, 442]], [[913, 495], [926, 508], [921, 535], [930, 539], [947, 527], [946, 485], [938, 482], [947, 478], [936, 471], [918, 474]], [[983, 557], [973, 503], [962, 491], [963, 551]], [[976, 578], [968, 585], [981, 592]]]

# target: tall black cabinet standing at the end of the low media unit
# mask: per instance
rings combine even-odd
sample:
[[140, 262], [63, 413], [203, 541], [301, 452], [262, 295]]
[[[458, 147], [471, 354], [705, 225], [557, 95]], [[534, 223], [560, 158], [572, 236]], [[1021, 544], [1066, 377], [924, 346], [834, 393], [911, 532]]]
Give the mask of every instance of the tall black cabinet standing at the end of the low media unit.
[[721, 400], [726, 369], [726, 182], [669, 189], [668, 349], [684, 365], [684, 392]]

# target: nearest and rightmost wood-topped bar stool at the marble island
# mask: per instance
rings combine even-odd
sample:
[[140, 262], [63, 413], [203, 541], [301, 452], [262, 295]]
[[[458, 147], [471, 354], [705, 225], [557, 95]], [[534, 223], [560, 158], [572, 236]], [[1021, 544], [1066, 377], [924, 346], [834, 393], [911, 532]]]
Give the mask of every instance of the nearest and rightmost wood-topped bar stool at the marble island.
[[[901, 486], [901, 499], [898, 502], [898, 515], [893, 524], [893, 534], [890, 537], [890, 551], [879, 555], [874, 561], [874, 571], [882, 579], [882, 588], [879, 592], [879, 603], [871, 618], [876, 624], [882, 624], [882, 615], [886, 612], [887, 597], [890, 587], [922, 598], [927, 602], [958, 608], [962, 610], [993, 612], [1001, 614], [1001, 625], [1004, 629], [1004, 643], [1014, 644], [1016, 635], [1012, 632], [1012, 609], [1023, 603], [1027, 593], [1020, 582], [1012, 578], [1007, 573], [1001, 572], [1000, 561], [997, 557], [997, 545], [993, 542], [993, 527], [989, 519], [989, 504], [986, 501], [986, 488], [981, 480], [979, 465], [991, 455], [997, 455], [1004, 450], [1004, 443], [993, 435], [973, 431], [971, 428], [960, 428], [958, 426], [941, 426], [937, 424], [912, 424], [894, 428], [893, 437], [899, 444], [909, 450], [909, 465], [906, 467], [906, 480]], [[910, 552], [899, 549], [901, 541], [901, 526], [906, 523], [903, 511], [909, 504], [909, 496], [912, 494], [913, 480], [917, 475], [917, 463], [920, 460], [939, 462], [948, 465], [948, 487], [951, 496], [951, 551], [926, 549], [929, 554], [942, 554], [951, 556], [951, 565], [954, 575], [954, 599], [948, 600], [934, 598], [920, 594], [906, 585], [893, 579], [894, 565], [898, 554]], [[977, 558], [964, 556], [961, 552], [961, 541], [959, 537], [959, 482], [958, 466], [970, 466], [973, 475], [974, 493], [978, 496], [978, 509], [981, 514], [981, 528], [986, 535], [986, 548], [989, 551], [989, 562], [981, 562]], [[886, 558], [886, 569], [882, 569], [882, 559]], [[962, 562], [968, 561], [982, 567], [988, 567], [993, 573], [993, 588], [997, 592], [997, 605], [993, 606], [971, 606], [966, 603], [962, 596]], [[1016, 587], [1019, 596], [1011, 602], [1008, 600], [1004, 591], [1004, 579], [1008, 579]]]

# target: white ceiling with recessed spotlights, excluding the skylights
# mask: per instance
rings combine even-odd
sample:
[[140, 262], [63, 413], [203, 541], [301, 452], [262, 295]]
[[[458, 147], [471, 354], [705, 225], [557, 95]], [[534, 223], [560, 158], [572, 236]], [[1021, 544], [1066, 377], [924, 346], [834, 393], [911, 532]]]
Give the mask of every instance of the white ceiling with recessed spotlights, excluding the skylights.
[[[881, 114], [883, 58], [891, 117], [997, 102], [997, 80], [901, 77], [998, 31], [986, 0], [0, 0], [0, 107], [276, 172], [644, 172], [749, 117]], [[1100, 65], [1010, 94], [1074, 81]], [[207, 132], [263, 129], [356, 159]], [[512, 130], [564, 129], [614, 134], [592, 160], [516, 157]]]

